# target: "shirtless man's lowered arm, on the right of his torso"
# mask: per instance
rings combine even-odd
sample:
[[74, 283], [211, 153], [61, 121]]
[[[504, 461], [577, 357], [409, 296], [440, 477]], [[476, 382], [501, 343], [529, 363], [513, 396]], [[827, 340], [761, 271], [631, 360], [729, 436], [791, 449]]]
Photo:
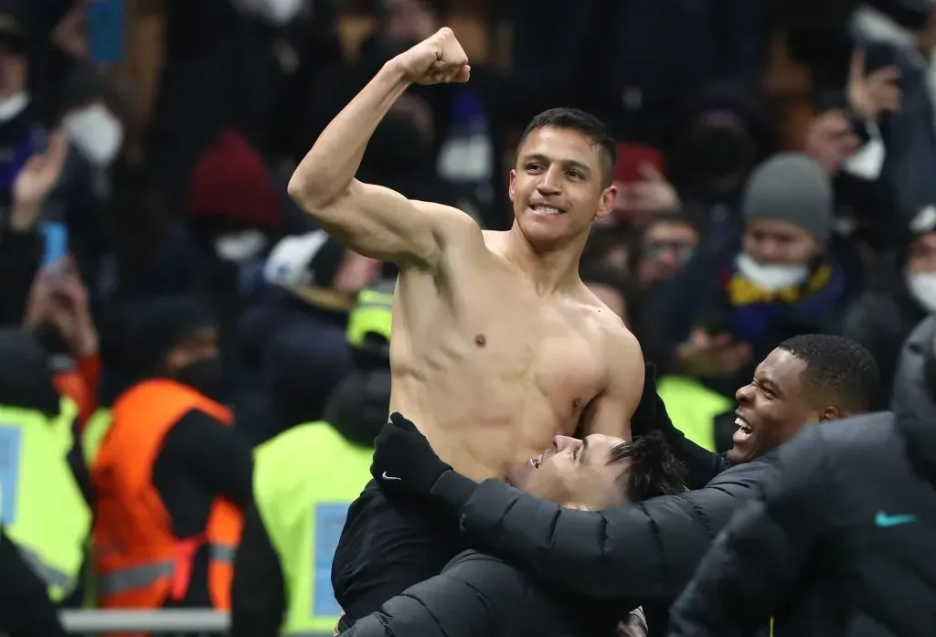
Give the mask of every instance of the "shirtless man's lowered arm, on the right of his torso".
[[623, 326], [607, 334], [607, 384], [589, 403], [582, 436], [603, 433], [631, 438], [631, 416], [643, 393], [644, 362], [640, 343]]

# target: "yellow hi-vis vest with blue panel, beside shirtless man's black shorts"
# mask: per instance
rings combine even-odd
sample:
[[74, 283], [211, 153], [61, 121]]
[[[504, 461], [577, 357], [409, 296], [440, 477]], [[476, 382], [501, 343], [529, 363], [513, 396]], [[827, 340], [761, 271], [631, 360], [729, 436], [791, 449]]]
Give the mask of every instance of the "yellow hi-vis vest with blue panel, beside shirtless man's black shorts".
[[330, 634], [341, 615], [331, 559], [348, 506], [371, 479], [372, 456], [373, 448], [347, 442], [322, 421], [287, 429], [256, 450], [256, 509], [285, 578], [284, 635]]

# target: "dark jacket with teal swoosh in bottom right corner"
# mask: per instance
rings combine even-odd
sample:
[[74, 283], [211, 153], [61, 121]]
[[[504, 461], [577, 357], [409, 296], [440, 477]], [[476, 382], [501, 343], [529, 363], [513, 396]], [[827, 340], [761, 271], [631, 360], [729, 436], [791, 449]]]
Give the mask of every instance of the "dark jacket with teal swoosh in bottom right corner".
[[936, 618], [936, 427], [872, 413], [783, 445], [671, 612], [672, 637], [923, 637]]

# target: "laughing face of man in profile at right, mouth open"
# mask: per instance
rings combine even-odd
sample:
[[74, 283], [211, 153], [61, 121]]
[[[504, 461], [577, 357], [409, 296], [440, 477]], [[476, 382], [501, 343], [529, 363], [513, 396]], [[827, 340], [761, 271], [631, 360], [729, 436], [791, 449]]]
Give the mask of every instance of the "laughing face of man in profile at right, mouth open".
[[816, 407], [802, 384], [806, 362], [777, 348], [757, 366], [750, 384], [735, 394], [738, 410], [728, 460], [750, 462], [789, 441], [810, 423], [838, 417], [835, 407]]

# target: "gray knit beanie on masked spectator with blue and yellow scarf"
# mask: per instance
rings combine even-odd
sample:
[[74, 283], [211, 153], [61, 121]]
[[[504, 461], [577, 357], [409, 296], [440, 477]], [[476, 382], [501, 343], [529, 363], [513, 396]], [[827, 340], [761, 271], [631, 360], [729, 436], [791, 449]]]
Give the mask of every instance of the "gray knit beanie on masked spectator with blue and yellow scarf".
[[832, 231], [832, 184], [808, 156], [774, 155], [745, 184], [741, 212], [745, 221], [781, 219], [825, 242]]

